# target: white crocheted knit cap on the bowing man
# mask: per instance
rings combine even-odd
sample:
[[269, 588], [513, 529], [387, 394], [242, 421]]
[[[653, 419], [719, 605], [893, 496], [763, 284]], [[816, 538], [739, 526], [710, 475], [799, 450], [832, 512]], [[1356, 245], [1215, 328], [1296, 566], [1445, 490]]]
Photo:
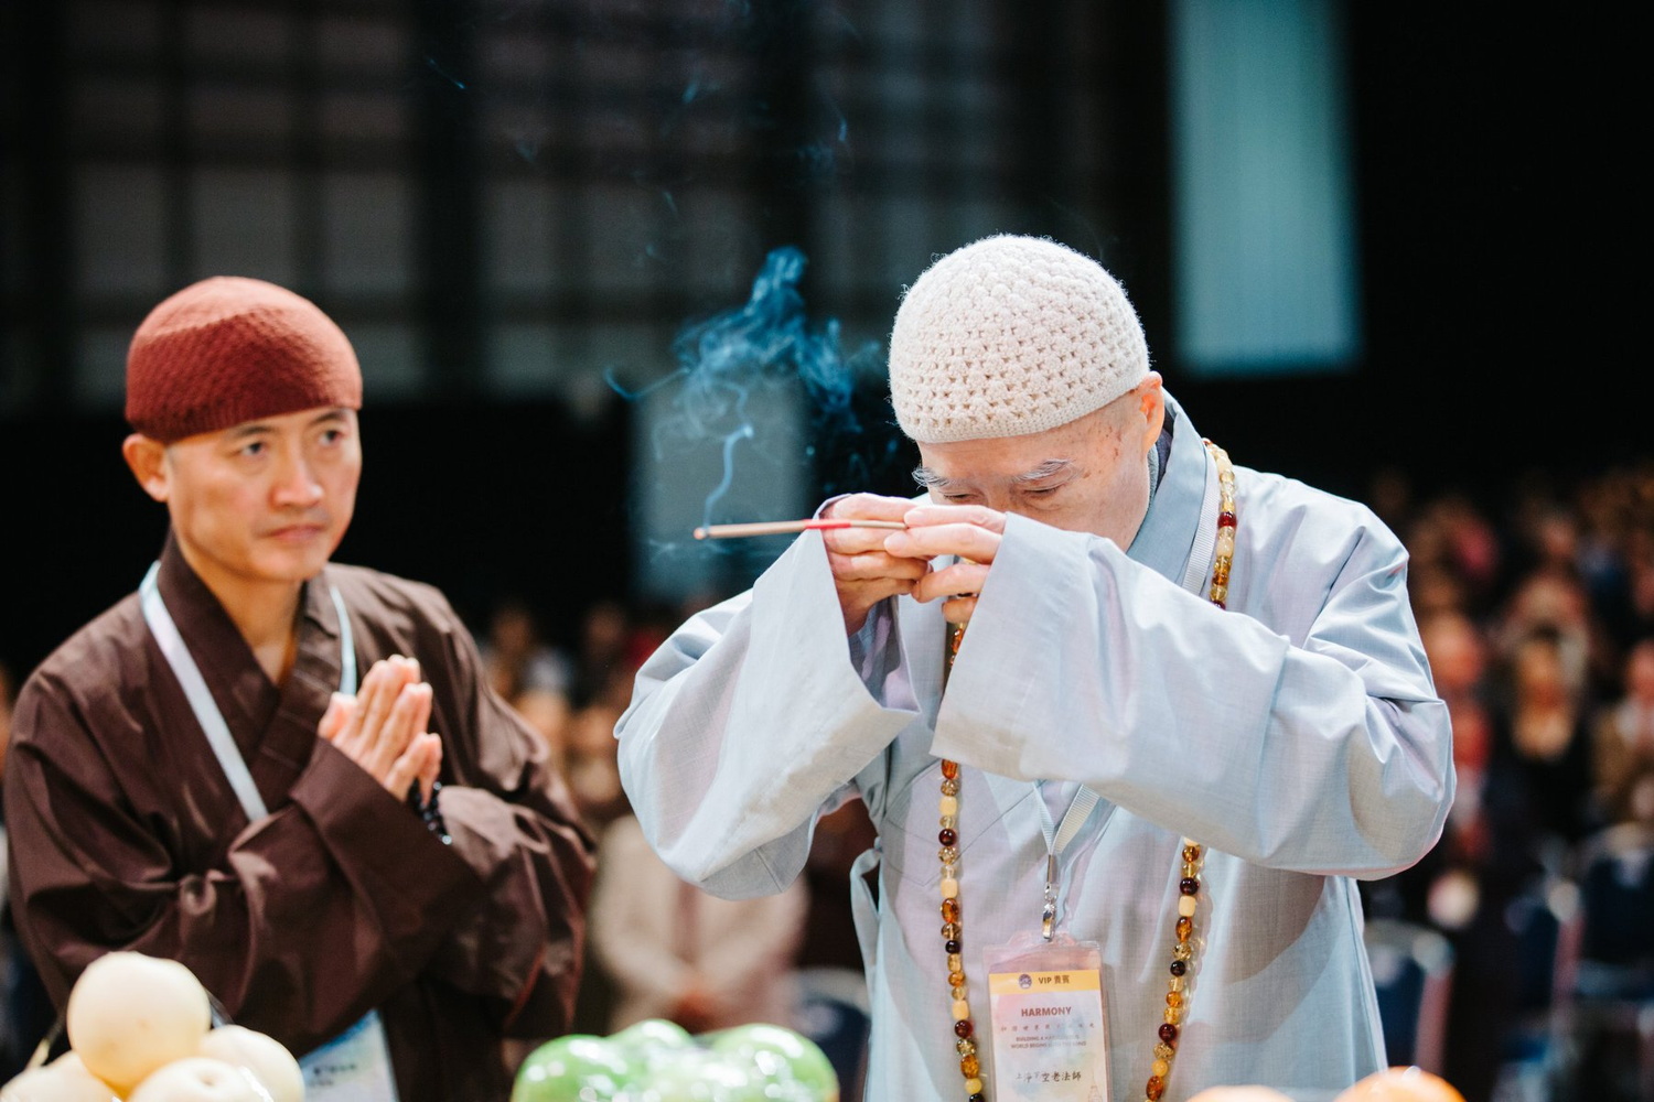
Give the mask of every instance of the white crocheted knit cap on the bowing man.
[[1126, 292], [1102, 264], [1001, 235], [943, 256], [890, 334], [890, 401], [933, 444], [1024, 436], [1100, 410], [1148, 375]]

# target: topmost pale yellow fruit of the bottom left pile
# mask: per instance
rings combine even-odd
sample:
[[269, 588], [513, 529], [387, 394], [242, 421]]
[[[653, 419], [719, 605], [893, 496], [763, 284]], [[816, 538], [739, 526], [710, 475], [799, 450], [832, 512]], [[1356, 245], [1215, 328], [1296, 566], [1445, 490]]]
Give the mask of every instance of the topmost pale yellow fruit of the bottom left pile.
[[212, 1005], [175, 960], [106, 953], [74, 981], [65, 1021], [86, 1071], [124, 1094], [162, 1064], [195, 1054]]

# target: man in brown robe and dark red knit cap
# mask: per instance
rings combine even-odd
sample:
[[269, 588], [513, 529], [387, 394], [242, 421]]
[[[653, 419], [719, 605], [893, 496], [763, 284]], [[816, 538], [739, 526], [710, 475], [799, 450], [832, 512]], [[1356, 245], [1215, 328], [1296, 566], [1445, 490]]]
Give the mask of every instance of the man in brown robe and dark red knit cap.
[[569, 1024], [592, 841], [442, 593], [329, 563], [361, 393], [268, 283], [139, 327], [124, 454], [170, 532], [22, 689], [12, 900], [60, 1006], [106, 952], [169, 957], [311, 1102], [501, 1102], [503, 1039]]

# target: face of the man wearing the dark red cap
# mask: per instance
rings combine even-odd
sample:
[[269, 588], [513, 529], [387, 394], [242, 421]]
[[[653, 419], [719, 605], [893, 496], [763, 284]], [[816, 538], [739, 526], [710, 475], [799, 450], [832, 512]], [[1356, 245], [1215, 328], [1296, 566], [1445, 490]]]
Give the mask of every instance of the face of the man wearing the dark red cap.
[[131, 438], [127, 461], [167, 504], [189, 563], [220, 590], [321, 572], [356, 511], [362, 446], [354, 410], [319, 408], [165, 446]]

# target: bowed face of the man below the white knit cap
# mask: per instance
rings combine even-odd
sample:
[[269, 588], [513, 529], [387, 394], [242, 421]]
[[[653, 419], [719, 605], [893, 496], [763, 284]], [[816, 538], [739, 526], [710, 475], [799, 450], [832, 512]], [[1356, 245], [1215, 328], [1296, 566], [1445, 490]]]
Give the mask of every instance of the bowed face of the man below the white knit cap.
[[1148, 451], [1166, 405], [1159, 375], [1077, 421], [1029, 436], [920, 444], [931, 501], [987, 506], [1130, 547], [1148, 512]]

